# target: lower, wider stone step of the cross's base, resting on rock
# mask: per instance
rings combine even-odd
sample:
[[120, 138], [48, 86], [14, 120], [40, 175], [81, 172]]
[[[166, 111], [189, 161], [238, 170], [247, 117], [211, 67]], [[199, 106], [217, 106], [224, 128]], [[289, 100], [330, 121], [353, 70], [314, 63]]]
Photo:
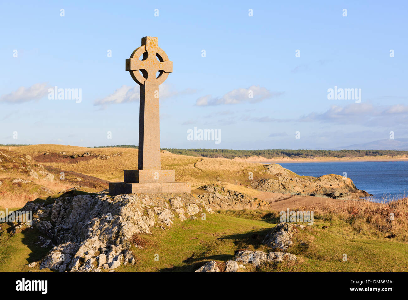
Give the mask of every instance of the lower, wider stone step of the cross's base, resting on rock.
[[160, 182], [160, 183], [132, 183], [109, 182], [109, 195], [134, 193], [190, 193], [191, 185], [188, 182]]

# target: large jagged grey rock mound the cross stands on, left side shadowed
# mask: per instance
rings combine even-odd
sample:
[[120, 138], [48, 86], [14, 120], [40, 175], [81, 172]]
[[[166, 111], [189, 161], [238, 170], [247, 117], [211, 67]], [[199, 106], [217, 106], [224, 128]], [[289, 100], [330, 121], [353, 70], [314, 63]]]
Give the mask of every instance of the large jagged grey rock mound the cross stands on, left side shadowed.
[[53, 204], [28, 202], [22, 210], [33, 211], [32, 226], [56, 245], [40, 269], [98, 272], [135, 263], [129, 250], [134, 233], [166, 229], [177, 217], [186, 220], [203, 211], [213, 213], [199, 198], [182, 196], [84, 194], [60, 197]]

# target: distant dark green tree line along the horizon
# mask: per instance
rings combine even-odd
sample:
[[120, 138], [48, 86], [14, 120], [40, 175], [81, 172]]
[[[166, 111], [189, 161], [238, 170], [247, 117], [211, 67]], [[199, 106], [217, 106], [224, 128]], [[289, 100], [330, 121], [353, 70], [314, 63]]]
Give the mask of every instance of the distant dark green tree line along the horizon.
[[[100, 146], [94, 148], [122, 147], [135, 148], [134, 145]], [[408, 154], [408, 151], [398, 150], [231, 150], [231, 149], [174, 149], [162, 148], [174, 154], [189, 156], [204, 156], [210, 158], [245, 158], [248, 156], [262, 156], [264, 158], [287, 157], [287, 158], [315, 158], [315, 157], [362, 157], [362, 156], [399, 156]]]

